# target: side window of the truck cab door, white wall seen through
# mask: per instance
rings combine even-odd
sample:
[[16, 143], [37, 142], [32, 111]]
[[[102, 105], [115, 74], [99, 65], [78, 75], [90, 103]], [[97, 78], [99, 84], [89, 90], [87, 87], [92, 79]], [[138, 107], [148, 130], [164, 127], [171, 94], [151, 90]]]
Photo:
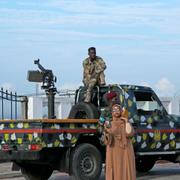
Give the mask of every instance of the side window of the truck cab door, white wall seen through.
[[161, 106], [156, 97], [151, 92], [134, 92], [136, 98], [137, 111], [140, 114], [148, 114], [161, 110]]

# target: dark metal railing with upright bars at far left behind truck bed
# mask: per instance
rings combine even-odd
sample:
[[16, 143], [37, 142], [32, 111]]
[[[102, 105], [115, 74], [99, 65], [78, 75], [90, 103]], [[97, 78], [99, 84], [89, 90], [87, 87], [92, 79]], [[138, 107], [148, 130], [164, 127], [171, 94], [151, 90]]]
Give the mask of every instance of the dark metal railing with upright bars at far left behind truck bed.
[[[10, 102], [10, 105], [7, 105]], [[10, 108], [10, 116], [8, 119], [18, 118], [18, 105], [21, 105], [23, 111], [23, 119], [27, 119], [27, 106], [28, 98], [27, 96], [18, 96], [17, 93], [9, 92], [8, 90], [0, 89], [0, 106], [1, 106], [1, 119], [5, 119], [5, 111]], [[10, 107], [9, 107], [10, 106]]]

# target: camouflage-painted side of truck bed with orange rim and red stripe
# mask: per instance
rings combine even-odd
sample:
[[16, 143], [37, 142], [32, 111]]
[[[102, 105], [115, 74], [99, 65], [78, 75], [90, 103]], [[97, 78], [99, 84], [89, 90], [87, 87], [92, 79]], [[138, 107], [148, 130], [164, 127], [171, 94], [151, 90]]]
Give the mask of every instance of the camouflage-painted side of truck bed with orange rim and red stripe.
[[95, 134], [97, 127], [97, 119], [0, 120], [0, 151], [73, 147], [81, 134]]

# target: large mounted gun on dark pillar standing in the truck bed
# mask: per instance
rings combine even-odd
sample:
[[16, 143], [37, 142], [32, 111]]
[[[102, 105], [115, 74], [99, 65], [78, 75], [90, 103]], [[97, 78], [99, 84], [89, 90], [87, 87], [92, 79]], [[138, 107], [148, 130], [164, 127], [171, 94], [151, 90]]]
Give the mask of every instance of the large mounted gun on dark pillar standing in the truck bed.
[[37, 71], [28, 71], [27, 79], [30, 82], [38, 82], [42, 83], [41, 88], [45, 90], [45, 93], [48, 98], [48, 118], [55, 119], [55, 95], [57, 93], [57, 89], [55, 87], [55, 83], [57, 78], [54, 76], [52, 70], [45, 69], [41, 64], [40, 60], [35, 60], [34, 64], [36, 64], [39, 68]]

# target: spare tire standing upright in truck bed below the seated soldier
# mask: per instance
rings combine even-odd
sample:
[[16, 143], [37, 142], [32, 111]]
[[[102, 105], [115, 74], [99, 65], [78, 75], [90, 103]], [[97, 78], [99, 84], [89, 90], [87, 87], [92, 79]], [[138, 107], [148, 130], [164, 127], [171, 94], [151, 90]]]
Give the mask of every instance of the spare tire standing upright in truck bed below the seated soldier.
[[75, 104], [70, 113], [69, 119], [98, 119], [99, 113], [94, 104], [80, 102]]

